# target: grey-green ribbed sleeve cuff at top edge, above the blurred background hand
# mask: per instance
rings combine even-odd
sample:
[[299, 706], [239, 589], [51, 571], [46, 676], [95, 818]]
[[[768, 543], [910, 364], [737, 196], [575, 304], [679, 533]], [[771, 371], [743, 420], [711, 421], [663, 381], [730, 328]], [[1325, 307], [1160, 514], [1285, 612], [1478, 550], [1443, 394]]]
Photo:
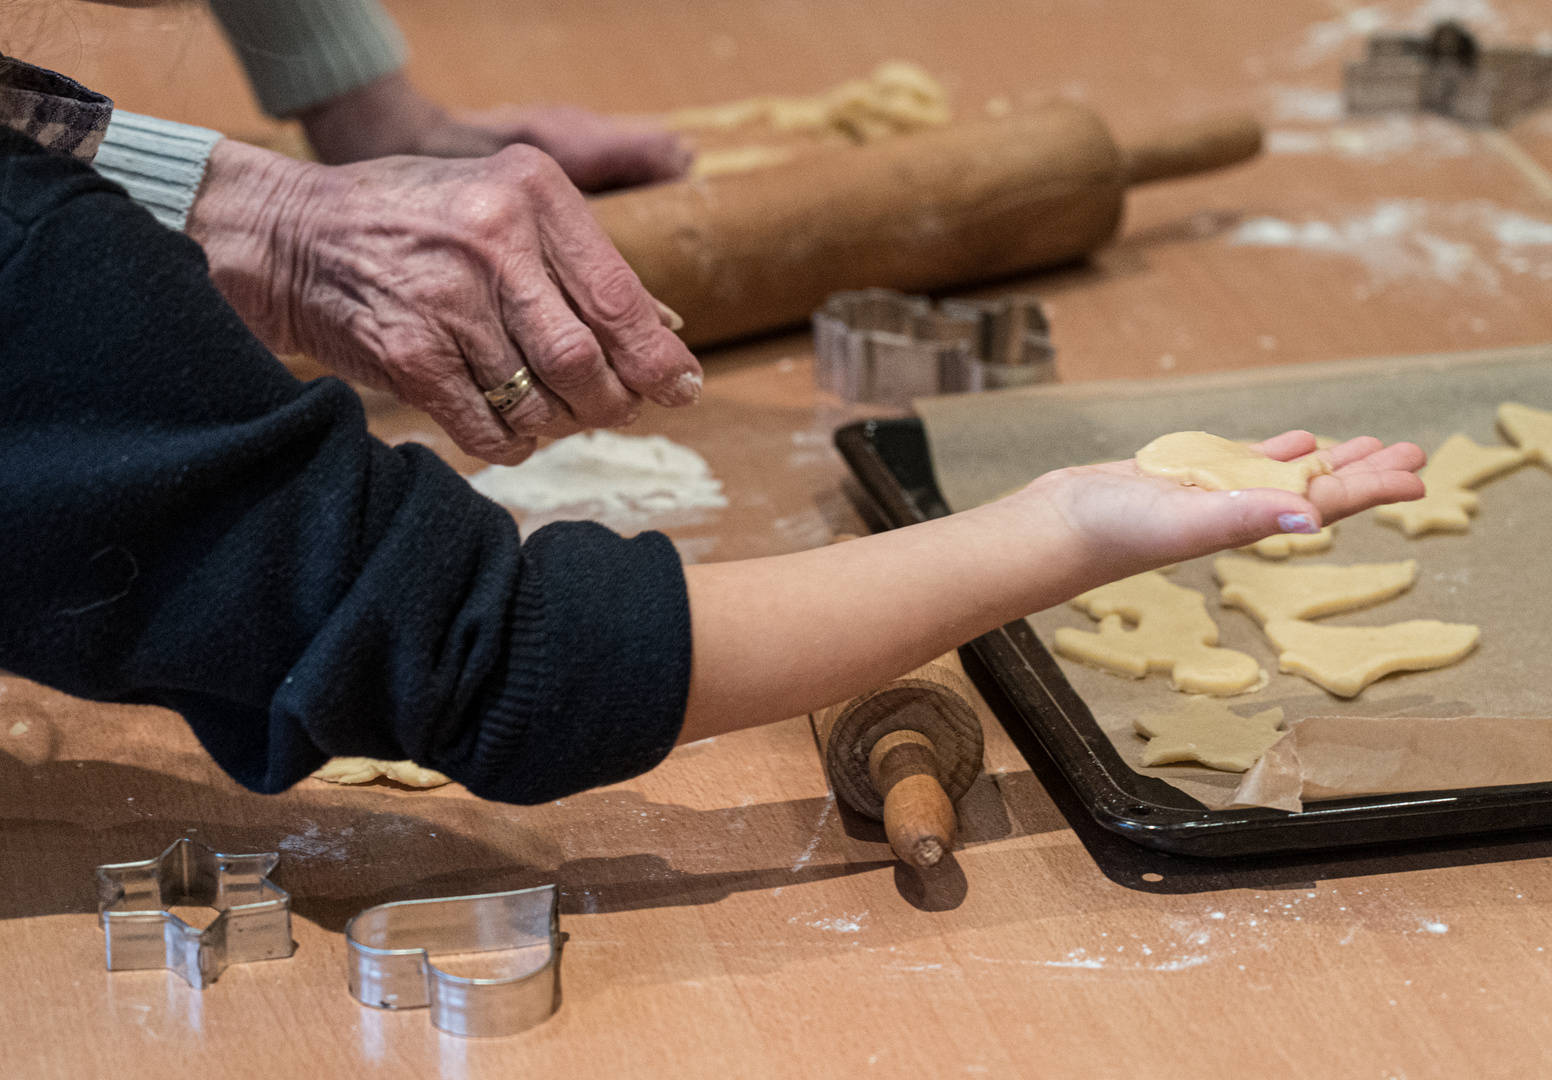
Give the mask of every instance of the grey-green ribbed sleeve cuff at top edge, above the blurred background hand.
[[270, 116], [363, 87], [404, 67], [404, 34], [377, 0], [211, 0]]

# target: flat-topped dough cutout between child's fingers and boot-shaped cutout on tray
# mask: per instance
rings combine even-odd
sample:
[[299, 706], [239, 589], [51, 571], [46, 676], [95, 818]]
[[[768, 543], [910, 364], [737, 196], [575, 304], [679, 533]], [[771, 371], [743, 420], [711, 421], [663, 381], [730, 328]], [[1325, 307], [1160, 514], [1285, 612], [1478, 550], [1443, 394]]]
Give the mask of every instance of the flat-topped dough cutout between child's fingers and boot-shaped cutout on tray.
[[1254, 559], [1220, 557], [1212, 573], [1223, 583], [1223, 605], [1257, 622], [1318, 619], [1405, 593], [1417, 580], [1417, 560], [1356, 566], [1271, 566]]

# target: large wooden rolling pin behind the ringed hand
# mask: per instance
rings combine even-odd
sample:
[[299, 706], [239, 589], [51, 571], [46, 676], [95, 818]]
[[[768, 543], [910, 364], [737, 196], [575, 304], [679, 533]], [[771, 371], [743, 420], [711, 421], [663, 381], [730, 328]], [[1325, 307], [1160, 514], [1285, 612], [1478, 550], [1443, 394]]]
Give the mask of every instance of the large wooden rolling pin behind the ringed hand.
[[1116, 234], [1128, 185], [1234, 164], [1260, 141], [1252, 118], [1226, 116], [1122, 149], [1093, 112], [1055, 102], [591, 206], [698, 346], [801, 323], [838, 289], [937, 292], [1069, 262]]

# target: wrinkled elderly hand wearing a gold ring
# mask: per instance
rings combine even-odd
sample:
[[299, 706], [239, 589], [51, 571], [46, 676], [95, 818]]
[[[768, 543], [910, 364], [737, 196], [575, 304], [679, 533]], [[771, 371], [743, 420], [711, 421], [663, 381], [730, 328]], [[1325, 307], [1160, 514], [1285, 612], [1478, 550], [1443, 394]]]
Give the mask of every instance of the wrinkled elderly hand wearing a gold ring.
[[[188, 233], [270, 349], [391, 391], [486, 461], [700, 397], [672, 313], [531, 146], [323, 166], [228, 140]], [[532, 389], [497, 411], [483, 391], [518, 368]]]

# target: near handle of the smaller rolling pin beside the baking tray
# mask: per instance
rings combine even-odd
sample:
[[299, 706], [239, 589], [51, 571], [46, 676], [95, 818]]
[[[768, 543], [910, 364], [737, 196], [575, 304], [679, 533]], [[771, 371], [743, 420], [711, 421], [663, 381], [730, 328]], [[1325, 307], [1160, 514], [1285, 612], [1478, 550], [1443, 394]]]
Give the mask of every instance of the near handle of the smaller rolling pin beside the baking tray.
[[889, 847], [911, 866], [936, 866], [954, 846], [959, 821], [937, 779], [931, 739], [917, 731], [891, 731], [874, 743], [868, 773], [883, 796], [883, 829]]

